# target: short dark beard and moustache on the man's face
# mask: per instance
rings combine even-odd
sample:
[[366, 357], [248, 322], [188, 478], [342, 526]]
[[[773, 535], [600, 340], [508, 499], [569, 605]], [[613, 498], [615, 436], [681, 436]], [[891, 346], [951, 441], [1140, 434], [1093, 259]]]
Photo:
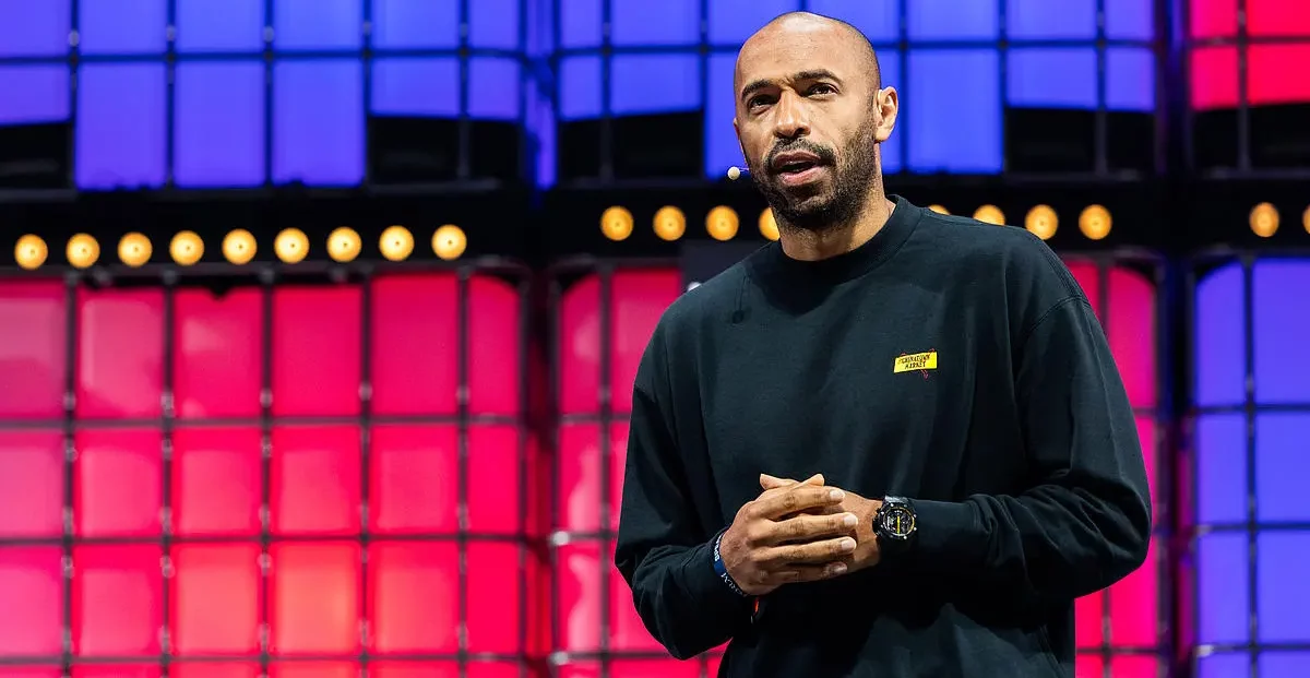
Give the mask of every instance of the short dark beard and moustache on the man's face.
[[[842, 149], [840, 162], [834, 162], [836, 153], [831, 148], [795, 137], [773, 147], [761, 162], [762, 166], [752, 164], [751, 175], [757, 178], [755, 185], [773, 208], [773, 215], [781, 226], [820, 233], [849, 224], [859, 216], [869, 196], [869, 187], [878, 181], [875, 126], [876, 120], [872, 118], [859, 126]], [[787, 151], [804, 151], [817, 156], [832, 173], [832, 187], [782, 186], [772, 166], [773, 158]]]

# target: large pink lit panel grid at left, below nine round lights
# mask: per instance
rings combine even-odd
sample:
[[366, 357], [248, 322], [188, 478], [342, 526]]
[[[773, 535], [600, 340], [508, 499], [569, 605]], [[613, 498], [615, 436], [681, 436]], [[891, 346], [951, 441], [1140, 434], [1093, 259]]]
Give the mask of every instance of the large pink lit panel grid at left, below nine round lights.
[[0, 283], [0, 673], [521, 675], [523, 312], [481, 272]]

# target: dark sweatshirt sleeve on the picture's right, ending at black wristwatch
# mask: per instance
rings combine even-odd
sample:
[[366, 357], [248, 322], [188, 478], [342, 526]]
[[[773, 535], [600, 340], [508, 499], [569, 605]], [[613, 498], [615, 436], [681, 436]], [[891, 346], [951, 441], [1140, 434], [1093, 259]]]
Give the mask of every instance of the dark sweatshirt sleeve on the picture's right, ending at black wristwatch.
[[916, 500], [909, 559], [1017, 594], [1077, 598], [1146, 559], [1151, 503], [1141, 442], [1086, 297], [1056, 304], [1020, 346], [1015, 393], [1034, 482], [1015, 496]]

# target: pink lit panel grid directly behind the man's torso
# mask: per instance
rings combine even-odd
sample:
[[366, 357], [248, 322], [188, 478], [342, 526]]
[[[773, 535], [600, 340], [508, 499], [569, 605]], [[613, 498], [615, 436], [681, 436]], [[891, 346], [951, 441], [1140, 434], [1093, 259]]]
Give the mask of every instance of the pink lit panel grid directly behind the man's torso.
[[[1104, 323], [1148, 459], [1161, 516], [1148, 563], [1111, 589], [1077, 603], [1078, 678], [1155, 678], [1167, 664], [1169, 599], [1162, 586], [1169, 534], [1161, 454], [1157, 292], [1153, 270], [1069, 259], [1070, 270]], [[677, 270], [618, 268], [592, 274], [558, 293], [558, 487], [553, 547], [559, 616], [552, 647], [567, 675], [629, 675], [626, 662], [663, 654], [613, 571], [626, 418], [641, 355], [660, 314], [681, 293]], [[714, 675], [717, 652], [703, 658]], [[693, 668], [667, 664], [679, 675]], [[693, 664], [694, 666], [694, 664]], [[679, 673], [683, 671], [683, 673]], [[645, 674], [643, 674], [645, 675]]]

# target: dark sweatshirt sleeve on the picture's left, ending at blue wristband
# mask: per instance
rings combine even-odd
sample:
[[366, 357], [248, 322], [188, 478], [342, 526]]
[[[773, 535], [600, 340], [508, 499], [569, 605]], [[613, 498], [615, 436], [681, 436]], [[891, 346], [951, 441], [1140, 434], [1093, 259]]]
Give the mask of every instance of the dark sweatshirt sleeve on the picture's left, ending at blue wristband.
[[715, 571], [718, 531], [709, 534], [693, 507], [672, 433], [665, 360], [656, 330], [633, 390], [614, 565], [646, 628], [686, 660], [749, 623], [752, 601]]

